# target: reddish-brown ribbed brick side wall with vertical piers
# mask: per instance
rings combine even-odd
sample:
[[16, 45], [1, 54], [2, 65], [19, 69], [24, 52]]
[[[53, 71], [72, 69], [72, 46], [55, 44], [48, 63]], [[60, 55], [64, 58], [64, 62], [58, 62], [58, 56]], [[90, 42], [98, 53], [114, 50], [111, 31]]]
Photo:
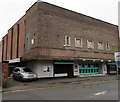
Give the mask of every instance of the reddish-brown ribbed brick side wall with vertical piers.
[[16, 22], [3, 37], [3, 61], [24, 57], [25, 16]]

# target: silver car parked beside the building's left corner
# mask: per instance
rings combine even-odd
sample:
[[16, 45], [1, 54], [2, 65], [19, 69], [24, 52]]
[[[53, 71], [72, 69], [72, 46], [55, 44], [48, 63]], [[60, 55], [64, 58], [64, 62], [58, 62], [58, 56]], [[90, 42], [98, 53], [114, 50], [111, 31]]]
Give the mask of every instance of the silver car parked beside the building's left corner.
[[19, 81], [36, 80], [37, 75], [30, 68], [16, 67], [13, 69], [13, 79]]

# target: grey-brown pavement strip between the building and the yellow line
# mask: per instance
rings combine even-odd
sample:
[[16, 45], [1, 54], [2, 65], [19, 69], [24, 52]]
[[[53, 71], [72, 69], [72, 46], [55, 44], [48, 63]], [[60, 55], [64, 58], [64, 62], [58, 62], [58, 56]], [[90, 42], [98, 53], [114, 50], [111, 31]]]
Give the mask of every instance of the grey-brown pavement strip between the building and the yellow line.
[[90, 82], [118, 80], [116, 75], [94, 76], [94, 77], [74, 77], [74, 78], [46, 78], [38, 79], [36, 81], [19, 82], [9, 79], [6, 88], [2, 88], [2, 92], [13, 90], [24, 90], [31, 88], [45, 88], [60, 85], [82, 84]]

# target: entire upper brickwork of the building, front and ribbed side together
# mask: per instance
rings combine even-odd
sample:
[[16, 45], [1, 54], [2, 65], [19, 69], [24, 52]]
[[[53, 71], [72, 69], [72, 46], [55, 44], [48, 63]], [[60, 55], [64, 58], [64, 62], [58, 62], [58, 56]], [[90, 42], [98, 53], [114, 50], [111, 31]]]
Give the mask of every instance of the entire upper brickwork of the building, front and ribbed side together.
[[[70, 37], [69, 47], [64, 46], [65, 36]], [[82, 47], [75, 46], [76, 37], [82, 39]], [[94, 41], [94, 49], [87, 48], [87, 40]], [[98, 49], [98, 42], [103, 42], [104, 50]], [[107, 43], [110, 50], [106, 49]], [[20, 57], [114, 60], [113, 54], [118, 51], [118, 26], [38, 2], [8, 30], [2, 45], [3, 60]]]

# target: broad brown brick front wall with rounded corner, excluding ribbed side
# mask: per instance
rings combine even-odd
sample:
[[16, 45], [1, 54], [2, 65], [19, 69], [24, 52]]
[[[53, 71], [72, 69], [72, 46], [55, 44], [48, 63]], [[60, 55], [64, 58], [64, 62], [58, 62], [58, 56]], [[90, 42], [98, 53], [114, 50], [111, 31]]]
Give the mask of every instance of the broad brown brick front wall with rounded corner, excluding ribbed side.
[[[70, 47], [63, 46], [66, 35], [71, 38]], [[113, 53], [118, 51], [117, 26], [44, 2], [36, 3], [27, 11], [26, 36], [26, 57], [114, 59]], [[82, 48], [75, 47], [75, 37], [83, 39]], [[87, 40], [94, 41], [94, 49], [87, 48]], [[104, 43], [104, 48], [109, 43], [110, 50], [98, 50], [99, 41]]]

